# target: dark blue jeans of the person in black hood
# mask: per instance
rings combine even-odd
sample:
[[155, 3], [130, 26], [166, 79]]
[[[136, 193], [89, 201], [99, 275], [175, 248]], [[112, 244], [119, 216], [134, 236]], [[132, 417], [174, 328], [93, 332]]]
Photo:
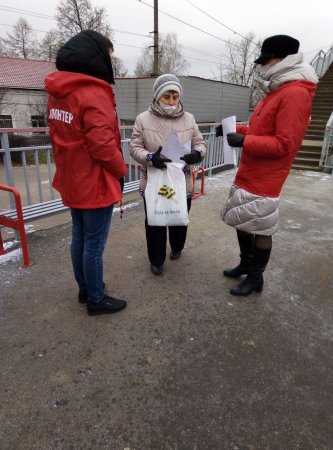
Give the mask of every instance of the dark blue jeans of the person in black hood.
[[113, 205], [107, 208], [71, 208], [71, 257], [74, 276], [91, 302], [104, 297], [103, 251], [111, 225]]

